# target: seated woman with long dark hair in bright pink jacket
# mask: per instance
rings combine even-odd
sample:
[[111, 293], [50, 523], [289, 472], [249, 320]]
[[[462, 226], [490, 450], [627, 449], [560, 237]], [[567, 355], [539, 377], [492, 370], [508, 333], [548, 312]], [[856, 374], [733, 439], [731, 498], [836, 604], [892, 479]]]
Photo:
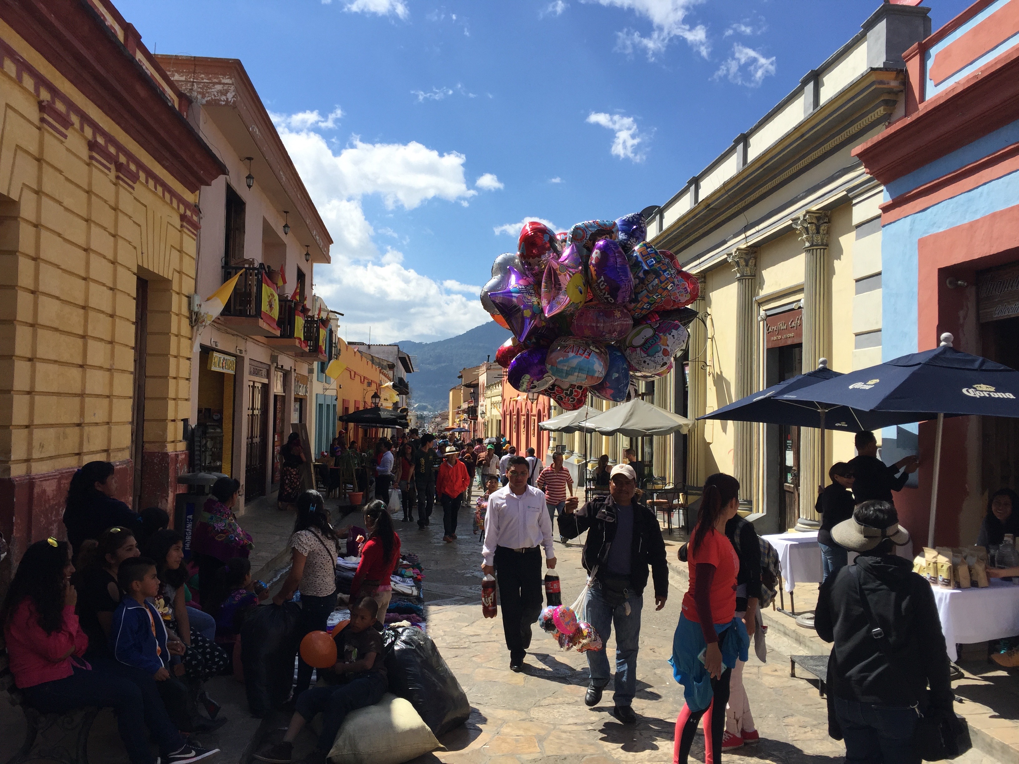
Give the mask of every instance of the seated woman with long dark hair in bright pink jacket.
[[131, 764], [156, 761], [149, 752], [150, 732], [163, 761], [196, 761], [184, 755], [191, 747], [173, 727], [152, 677], [132, 680], [95, 670], [83, 660], [89, 638], [74, 614], [77, 590], [70, 585], [70, 552], [65, 541], [37, 541], [25, 550], [7, 590], [0, 624], [14, 684], [42, 713], [112, 708]]

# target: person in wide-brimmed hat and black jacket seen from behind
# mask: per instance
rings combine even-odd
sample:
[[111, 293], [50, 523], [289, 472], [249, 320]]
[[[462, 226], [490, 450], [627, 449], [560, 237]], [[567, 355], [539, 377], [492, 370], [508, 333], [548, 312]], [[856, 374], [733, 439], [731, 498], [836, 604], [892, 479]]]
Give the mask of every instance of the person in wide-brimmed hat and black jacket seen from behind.
[[832, 538], [859, 556], [821, 584], [814, 613], [817, 636], [834, 643], [828, 733], [841, 731], [847, 762], [918, 764], [918, 711], [955, 720], [930, 585], [895, 553], [910, 538], [891, 502], [857, 504]]

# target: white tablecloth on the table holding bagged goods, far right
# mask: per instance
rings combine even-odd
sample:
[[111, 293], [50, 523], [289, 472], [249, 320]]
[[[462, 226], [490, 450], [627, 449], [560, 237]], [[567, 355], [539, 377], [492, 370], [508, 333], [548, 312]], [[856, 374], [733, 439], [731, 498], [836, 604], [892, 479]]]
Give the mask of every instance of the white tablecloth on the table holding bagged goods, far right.
[[956, 645], [1019, 635], [1019, 586], [991, 579], [985, 589], [930, 589], [952, 660]]

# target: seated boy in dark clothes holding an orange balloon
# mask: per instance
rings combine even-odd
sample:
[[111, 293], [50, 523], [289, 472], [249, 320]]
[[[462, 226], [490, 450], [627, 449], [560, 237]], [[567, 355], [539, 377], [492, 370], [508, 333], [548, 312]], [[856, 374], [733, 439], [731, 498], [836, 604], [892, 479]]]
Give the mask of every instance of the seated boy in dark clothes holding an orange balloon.
[[382, 660], [382, 637], [373, 629], [378, 603], [365, 597], [351, 608], [351, 622], [335, 638], [336, 664], [320, 669], [328, 687], [313, 687], [298, 698], [298, 710], [282, 743], [266, 744], [255, 754], [259, 761], [288, 764], [293, 741], [315, 715], [322, 713], [318, 745], [302, 764], [326, 764], [343, 719], [351, 711], [373, 706], [388, 689]]

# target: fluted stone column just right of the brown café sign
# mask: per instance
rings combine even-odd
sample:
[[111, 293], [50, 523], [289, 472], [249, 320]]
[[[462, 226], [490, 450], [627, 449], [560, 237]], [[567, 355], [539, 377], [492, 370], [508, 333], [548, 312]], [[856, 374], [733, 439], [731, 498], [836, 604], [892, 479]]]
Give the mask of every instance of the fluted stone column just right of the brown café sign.
[[[808, 372], [827, 357], [832, 333], [828, 216], [823, 212], [807, 211], [793, 220], [793, 226], [803, 241], [803, 371]], [[796, 524], [800, 530], [816, 530], [820, 525], [814, 511], [817, 489], [824, 485], [826, 475], [820, 446], [820, 430], [800, 428], [800, 519]]]

